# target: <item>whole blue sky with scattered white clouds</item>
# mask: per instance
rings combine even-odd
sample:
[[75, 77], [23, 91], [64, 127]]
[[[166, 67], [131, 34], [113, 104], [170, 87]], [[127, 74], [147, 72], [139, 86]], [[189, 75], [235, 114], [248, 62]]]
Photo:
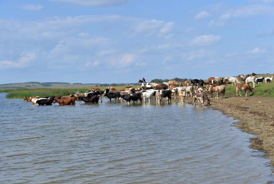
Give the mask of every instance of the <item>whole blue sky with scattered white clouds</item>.
[[0, 84], [274, 73], [274, 0], [0, 0]]

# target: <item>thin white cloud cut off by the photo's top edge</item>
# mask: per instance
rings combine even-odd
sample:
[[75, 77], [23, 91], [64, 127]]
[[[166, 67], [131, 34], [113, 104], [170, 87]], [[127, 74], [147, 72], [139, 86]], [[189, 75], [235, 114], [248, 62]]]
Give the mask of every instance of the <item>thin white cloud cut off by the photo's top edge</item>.
[[110, 5], [119, 5], [127, 0], [51, 0], [51, 1], [59, 1], [66, 3], [73, 3], [78, 5], [85, 6], [110, 6]]

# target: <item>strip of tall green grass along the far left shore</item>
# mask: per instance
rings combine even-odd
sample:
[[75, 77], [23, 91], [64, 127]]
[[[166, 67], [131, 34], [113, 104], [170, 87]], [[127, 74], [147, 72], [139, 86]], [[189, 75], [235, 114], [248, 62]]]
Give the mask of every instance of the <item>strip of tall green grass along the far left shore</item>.
[[[137, 87], [137, 86], [133, 86]], [[100, 87], [101, 90], [105, 90], [108, 87]], [[76, 92], [83, 93], [90, 88], [71, 88], [71, 89], [19, 89], [19, 90], [0, 90], [0, 92], [7, 92], [6, 98], [23, 98], [24, 96], [53, 96], [61, 95], [67, 96], [75, 94]], [[117, 91], [125, 89], [125, 86], [116, 86]]]

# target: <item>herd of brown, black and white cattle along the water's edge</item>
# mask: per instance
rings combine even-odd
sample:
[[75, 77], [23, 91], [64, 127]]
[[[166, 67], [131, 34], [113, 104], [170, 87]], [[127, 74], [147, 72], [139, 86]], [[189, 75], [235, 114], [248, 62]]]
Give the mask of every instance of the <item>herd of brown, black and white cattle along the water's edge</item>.
[[[171, 96], [174, 95], [174, 99], [179, 97], [180, 103], [185, 103], [186, 97], [191, 97], [196, 105], [196, 100], [198, 99], [202, 105], [204, 106], [204, 102], [210, 104], [209, 97], [212, 97], [213, 93], [215, 93], [215, 98], [219, 97], [219, 94], [222, 94], [223, 98], [225, 97], [226, 92], [226, 84], [232, 84], [236, 86], [236, 95], [240, 92], [255, 92], [255, 84], [263, 83], [271, 83], [273, 77], [256, 77], [255, 73], [250, 75], [239, 75], [238, 77], [210, 77], [207, 82], [203, 80], [194, 79], [191, 81], [168, 81], [163, 84], [157, 83], [146, 83], [144, 79], [139, 80], [141, 86], [139, 88], [134, 87], [126, 87], [124, 91], [117, 92], [114, 87], [108, 87], [108, 89], [101, 91], [100, 88], [93, 88], [82, 94], [71, 94], [68, 97], [59, 96], [45, 96], [40, 98], [40, 96], [32, 96], [32, 97], [24, 97], [24, 100], [31, 101], [32, 104], [35, 105], [51, 105], [52, 103], [59, 103], [60, 105], [69, 105], [75, 104], [76, 100], [83, 100], [85, 103], [98, 103], [102, 95], [107, 98], [115, 100], [126, 100], [129, 104], [131, 101], [137, 102], [145, 102], [148, 100], [155, 100], [157, 104], [161, 103], [162, 99], [166, 97], [168, 102], [171, 102]], [[244, 82], [244, 83], [241, 83]], [[253, 84], [253, 88], [249, 86], [249, 84]], [[205, 89], [204, 89], [204, 85]]]

